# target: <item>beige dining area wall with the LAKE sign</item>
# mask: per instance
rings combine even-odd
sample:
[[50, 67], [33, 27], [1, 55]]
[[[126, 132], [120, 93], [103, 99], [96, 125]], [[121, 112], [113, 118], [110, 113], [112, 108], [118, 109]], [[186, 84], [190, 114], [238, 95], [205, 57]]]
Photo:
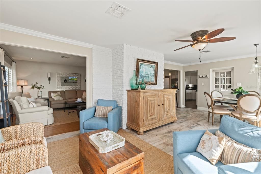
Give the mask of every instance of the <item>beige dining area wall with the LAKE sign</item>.
[[[234, 86], [232, 88], [238, 88], [236, 82], [241, 82], [241, 86], [247, 91], [256, 91], [257, 74], [247, 74], [251, 64], [253, 63], [255, 57], [234, 59], [228, 61], [212, 62], [212, 63], [202, 63], [197, 65], [189, 65], [183, 67], [183, 84], [185, 84], [185, 71], [198, 70], [198, 75], [210, 74], [210, 69], [213, 68], [226, 68], [234, 67]], [[258, 57], [260, 59], [260, 56]], [[205, 83], [203, 86], [202, 83]], [[206, 99], [204, 96], [204, 91], [210, 93], [210, 78], [209, 79], [198, 79], [198, 107], [206, 108]], [[185, 103], [185, 92], [183, 94], [183, 103]], [[202, 109], [202, 108], [201, 108]]]

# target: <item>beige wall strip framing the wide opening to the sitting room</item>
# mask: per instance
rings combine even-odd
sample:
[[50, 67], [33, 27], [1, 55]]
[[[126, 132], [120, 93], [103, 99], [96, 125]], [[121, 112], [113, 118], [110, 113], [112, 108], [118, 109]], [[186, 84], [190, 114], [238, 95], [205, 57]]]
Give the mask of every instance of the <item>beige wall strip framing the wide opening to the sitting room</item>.
[[7, 45], [30, 47], [40, 50], [62, 52], [87, 58], [87, 107], [92, 106], [92, 48], [63, 43], [13, 31], [0, 30], [0, 42]]

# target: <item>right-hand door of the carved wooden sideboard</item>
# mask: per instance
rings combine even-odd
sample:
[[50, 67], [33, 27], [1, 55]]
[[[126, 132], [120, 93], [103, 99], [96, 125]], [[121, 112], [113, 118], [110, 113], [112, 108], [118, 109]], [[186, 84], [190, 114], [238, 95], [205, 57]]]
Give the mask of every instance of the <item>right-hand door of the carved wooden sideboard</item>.
[[174, 116], [175, 96], [171, 91], [162, 92], [162, 117], [161, 120], [166, 120]]

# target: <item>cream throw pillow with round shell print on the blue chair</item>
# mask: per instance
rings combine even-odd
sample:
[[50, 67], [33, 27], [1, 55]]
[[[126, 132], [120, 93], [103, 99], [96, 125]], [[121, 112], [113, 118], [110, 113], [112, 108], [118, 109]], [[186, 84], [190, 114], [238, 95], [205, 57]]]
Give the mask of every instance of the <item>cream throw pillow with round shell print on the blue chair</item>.
[[217, 137], [207, 130], [201, 137], [196, 151], [209, 160], [212, 165], [216, 165], [221, 157], [224, 145], [224, 137]]

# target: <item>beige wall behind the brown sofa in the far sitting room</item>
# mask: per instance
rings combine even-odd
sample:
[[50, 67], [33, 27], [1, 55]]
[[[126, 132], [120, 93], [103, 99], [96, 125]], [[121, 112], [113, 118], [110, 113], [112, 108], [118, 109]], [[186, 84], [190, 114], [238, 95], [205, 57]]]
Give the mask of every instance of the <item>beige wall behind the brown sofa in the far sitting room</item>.
[[[23, 93], [29, 92], [34, 98], [37, 97], [38, 89], [31, 89], [31, 84], [38, 82], [39, 85], [43, 85], [44, 89], [43, 97], [48, 96], [48, 91], [56, 90], [56, 72], [63, 73], [78, 73], [81, 74], [81, 89], [86, 89], [85, 75], [86, 67], [71, 66], [71, 65], [60, 65], [52, 63], [42, 63], [33, 61], [16, 61], [16, 74], [17, 79], [28, 80], [28, 86], [23, 87]], [[29, 70], [29, 71], [28, 71]], [[47, 73], [51, 73], [51, 81], [47, 79]], [[17, 91], [21, 91], [21, 87], [17, 86]]]

